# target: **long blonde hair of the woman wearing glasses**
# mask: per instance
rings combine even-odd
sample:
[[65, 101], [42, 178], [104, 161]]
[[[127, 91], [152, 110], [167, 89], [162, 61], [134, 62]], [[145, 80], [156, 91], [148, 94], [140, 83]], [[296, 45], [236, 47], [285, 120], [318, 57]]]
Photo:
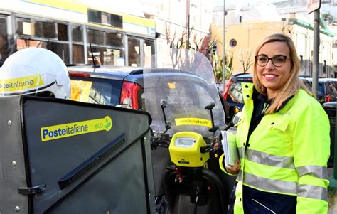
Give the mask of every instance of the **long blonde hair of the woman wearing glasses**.
[[[257, 55], [266, 43], [272, 43], [272, 42], [284, 42], [287, 44], [289, 48], [289, 58], [291, 62], [291, 70], [290, 70], [290, 75], [287, 81], [284, 83], [284, 86], [277, 92], [277, 95], [274, 97], [274, 100], [272, 101], [272, 104], [269, 106], [267, 111], [265, 112], [266, 114], [273, 114], [276, 112], [279, 107], [282, 106], [282, 103], [288, 99], [288, 97], [291, 97], [292, 95], [295, 95], [297, 92], [299, 92], [299, 89], [304, 89], [306, 92], [308, 92], [310, 95], [312, 93], [304, 85], [304, 82], [299, 80], [299, 58], [297, 57], [297, 52], [296, 52], [296, 47], [294, 45], [294, 42], [289, 38], [288, 36], [282, 34], [282, 33], [274, 33], [266, 38], [264, 38], [260, 44], [257, 46], [255, 50], [255, 55]], [[253, 82], [256, 90], [260, 92], [260, 94], [267, 96], [267, 88], [262, 85], [260, 80], [257, 77], [257, 63], [255, 60], [254, 63], [254, 73], [253, 73]]]

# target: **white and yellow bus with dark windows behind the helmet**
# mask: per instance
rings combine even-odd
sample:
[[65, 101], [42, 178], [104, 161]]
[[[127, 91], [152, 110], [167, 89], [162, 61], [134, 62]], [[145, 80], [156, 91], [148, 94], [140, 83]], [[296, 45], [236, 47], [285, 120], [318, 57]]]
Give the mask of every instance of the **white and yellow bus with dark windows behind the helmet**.
[[[0, 0], [0, 62], [17, 50], [52, 50], [65, 64], [146, 67], [155, 21], [71, 0]], [[36, 59], [38, 60], [38, 59]]]

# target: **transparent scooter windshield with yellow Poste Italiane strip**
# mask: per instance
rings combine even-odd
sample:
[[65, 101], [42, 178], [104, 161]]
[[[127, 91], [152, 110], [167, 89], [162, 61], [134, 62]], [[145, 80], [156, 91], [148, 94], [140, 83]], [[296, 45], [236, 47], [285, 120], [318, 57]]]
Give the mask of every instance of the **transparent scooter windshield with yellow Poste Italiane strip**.
[[179, 49], [157, 55], [156, 60], [160, 66], [144, 69], [144, 105], [152, 117], [151, 129], [164, 132], [169, 124], [166, 133], [170, 135], [190, 131], [210, 137], [212, 122], [210, 111], [205, 109], [210, 102], [215, 104], [214, 125], [223, 129], [225, 113], [205, 55]]

